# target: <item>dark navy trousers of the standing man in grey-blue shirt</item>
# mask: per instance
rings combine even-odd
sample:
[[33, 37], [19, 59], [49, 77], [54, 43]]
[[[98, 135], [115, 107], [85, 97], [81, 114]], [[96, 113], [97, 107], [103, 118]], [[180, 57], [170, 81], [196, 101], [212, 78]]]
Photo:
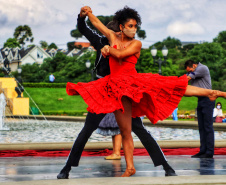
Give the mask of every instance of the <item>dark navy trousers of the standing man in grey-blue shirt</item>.
[[215, 102], [207, 97], [198, 98], [198, 125], [200, 135], [200, 152], [214, 154], [213, 109]]

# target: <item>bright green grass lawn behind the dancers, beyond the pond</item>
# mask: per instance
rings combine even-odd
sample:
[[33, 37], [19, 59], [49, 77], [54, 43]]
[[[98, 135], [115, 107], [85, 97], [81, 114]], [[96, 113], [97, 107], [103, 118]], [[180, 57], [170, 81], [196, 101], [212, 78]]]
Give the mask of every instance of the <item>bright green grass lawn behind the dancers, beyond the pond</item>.
[[[68, 96], [65, 88], [26, 88], [25, 90], [42, 111], [86, 111], [87, 108], [81, 96]], [[26, 93], [24, 96], [27, 97]], [[218, 98], [218, 101], [222, 103], [223, 111], [226, 111], [226, 99]], [[31, 100], [30, 106], [34, 106]], [[183, 97], [178, 109], [194, 111], [196, 107], [196, 97]]]

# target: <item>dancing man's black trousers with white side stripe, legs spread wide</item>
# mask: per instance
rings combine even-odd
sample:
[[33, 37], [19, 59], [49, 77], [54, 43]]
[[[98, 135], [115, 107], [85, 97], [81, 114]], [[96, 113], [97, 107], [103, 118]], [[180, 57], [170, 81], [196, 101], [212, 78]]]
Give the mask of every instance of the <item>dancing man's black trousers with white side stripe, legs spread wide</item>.
[[[81, 158], [84, 147], [92, 135], [92, 133], [97, 129], [101, 120], [106, 114], [95, 114], [88, 112], [84, 127], [76, 138], [71, 152], [67, 159], [67, 165], [78, 166], [79, 160]], [[162, 165], [166, 162], [165, 156], [159, 147], [158, 143], [152, 137], [152, 135], [145, 129], [141, 119], [132, 118], [132, 131], [140, 139], [146, 150], [148, 151], [150, 157], [155, 166]]]

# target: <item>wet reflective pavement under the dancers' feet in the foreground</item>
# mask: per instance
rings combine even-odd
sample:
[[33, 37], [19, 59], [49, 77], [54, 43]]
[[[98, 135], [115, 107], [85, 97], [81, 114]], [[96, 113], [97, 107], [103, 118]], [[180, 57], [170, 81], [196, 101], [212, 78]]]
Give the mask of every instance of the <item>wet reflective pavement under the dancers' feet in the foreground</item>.
[[[186, 184], [194, 184], [196, 181], [202, 181], [204, 184], [212, 181], [214, 181], [213, 184], [226, 183], [226, 156], [216, 155], [214, 159], [167, 156], [167, 160], [175, 169], [178, 177], [165, 177], [162, 167], [154, 167], [149, 156], [134, 156], [137, 170], [134, 176], [130, 178], [111, 178], [120, 177], [125, 171], [124, 157], [122, 157], [122, 160], [115, 161], [104, 160], [103, 157], [82, 157], [79, 167], [72, 168], [69, 180], [56, 180], [57, 174], [65, 164], [66, 157], [0, 158], [0, 183], [5, 185], [24, 185], [29, 184], [29, 182], [30, 184], [58, 184], [59, 181], [62, 181], [63, 184], [65, 182], [67, 182], [66, 184], [72, 184], [72, 182], [73, 184], [79, 184], [79, 182], [82, 184], [99, 184], [100, 182], [103, 184], [116, 184], [118, 179], [121, 179], [119, 184], [127, 184], [127, 182], [128, 184], [145, 184], [149, 181], [150, 184], [161, 184], [161, 182], [167, 184], [171, 182], [171, 178], [175, 179], [175, 184], [177, 184], [176, 180], [178, 182], [182, 180]], [[212, 178], [209, 176], [212, 176]], [[28, 182], [25, 183], [24, 181]]]

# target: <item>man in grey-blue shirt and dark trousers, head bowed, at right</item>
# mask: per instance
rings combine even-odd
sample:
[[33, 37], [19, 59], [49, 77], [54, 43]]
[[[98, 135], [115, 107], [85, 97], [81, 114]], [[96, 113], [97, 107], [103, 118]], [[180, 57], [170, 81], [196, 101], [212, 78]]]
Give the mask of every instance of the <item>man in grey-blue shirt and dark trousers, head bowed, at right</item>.
[[[188, 60], [184, 65], [191, 85], [205, 89], [212, 89], [209, 69], [206, 65], [197, 64]], [[214, 130], [213, 130], [213, 109], [215, 101], [208, 97], [198, 97], [198, 125], [200, 135], [200, 151], [191, 156], [192, 158], [213, 158], [214, 155]]]

